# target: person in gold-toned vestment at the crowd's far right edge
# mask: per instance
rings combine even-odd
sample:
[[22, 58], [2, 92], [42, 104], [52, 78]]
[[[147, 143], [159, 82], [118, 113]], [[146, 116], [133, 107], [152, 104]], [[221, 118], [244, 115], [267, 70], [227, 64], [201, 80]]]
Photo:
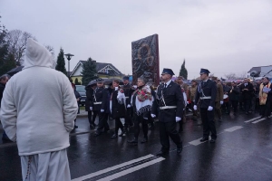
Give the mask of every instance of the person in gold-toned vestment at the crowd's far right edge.
[[[269, 90], [270, 89], [270, 90]], [[272, 86], [267, 77], [264, 77], [263, 83], [259, 86], [259, 114], [261, 118], [268, 118], [271, 114]]]

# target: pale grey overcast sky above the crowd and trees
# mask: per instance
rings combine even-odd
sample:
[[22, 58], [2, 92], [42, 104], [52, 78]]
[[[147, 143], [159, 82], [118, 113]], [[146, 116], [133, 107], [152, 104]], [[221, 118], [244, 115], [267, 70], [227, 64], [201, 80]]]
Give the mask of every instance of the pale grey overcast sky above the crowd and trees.
[[[111, 62], [131, 74], [131, 42], [159, 34], [160, 71], [189, 79], [272, 64], [271, 0], [0, 0], [2, 24], [80, 60]], [[66, 62], [67, 65], [67, 62]]]

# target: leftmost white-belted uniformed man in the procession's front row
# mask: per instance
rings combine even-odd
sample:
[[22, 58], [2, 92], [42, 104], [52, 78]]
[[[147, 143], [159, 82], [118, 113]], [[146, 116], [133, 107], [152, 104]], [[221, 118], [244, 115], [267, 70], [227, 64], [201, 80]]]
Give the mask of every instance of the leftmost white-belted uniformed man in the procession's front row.
[[108, 117], [110, 112], [110, 96], [108, 90], [103, 88], [103, 80], [98, 78], [96, 80], [97, 88], [93, 91], [92, 98], [92, 107], [90, 110], [94, 112], [98, 112], [99, 115], [99, 123], [98, 128], [96, 129], [95, 136], [99, 136], [102, 134], [102, 129], [104, 132], [110, 130], [108, 124]]

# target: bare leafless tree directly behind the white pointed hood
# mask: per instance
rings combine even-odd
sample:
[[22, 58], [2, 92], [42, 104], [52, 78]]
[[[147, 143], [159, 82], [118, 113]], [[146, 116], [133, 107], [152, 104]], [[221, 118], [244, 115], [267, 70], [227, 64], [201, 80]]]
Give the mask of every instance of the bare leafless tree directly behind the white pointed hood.
[[9, 52], [14, 55], [16, 62], [22, 64], [24, 62], [23, 57], [27, 39], [36, 39], [31, 33], [23, 32], [21, 30], [9, 31], [6, 38], [9, 44]]

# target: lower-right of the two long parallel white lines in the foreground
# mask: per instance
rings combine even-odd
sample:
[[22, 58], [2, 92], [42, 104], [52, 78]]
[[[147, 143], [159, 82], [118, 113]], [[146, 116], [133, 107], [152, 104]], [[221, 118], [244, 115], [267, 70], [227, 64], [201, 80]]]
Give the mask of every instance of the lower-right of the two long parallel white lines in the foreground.
[[112, 176], [106, 176], [106, 177], [103, 177], [102, 179], [99, 179], [98, 181], [109, 181], [109, 180], [113, 180], [113, 179], [116, 179], [116, 178], [119, 178], [121, 176], [125, 176], [125, 175], [128, 175], [132, 172], [135, 172], [137, 170], [140, 170], [141, 168], [144, 168], [144, 167], [149, 167], [151, 165], [154, 165], [162, 160], [164, 160], [165, 158], [164, 157], [158, 157], [156, 159], [153, 159], [149, 162], [145, 162], [139, 166], [136, 166], [136, 167], [131, 167], [129, 169], [126, 169], [124, 171], [121, 171], [121, 172], [118, 172], [116, 174], [113, 174]]

